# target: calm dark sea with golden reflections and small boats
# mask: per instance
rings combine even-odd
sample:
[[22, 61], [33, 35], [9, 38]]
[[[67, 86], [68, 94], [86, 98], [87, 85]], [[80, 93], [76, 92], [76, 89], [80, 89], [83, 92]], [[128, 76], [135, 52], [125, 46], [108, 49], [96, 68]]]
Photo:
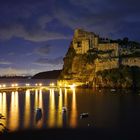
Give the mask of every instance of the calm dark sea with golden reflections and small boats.
[[[50, 81], [26, 82], [48, 84]], [[38, 107], [42, 113], [36, 112]], [[62, 107], [67, 107], [66, 113], [62, 112]], [[89, 117], [80, 119], [83, 112], [88, 112]], [[76, 88], [7, 91], [0, 92], [0, 113], [6, 118], [0, 123], [10, 131], [63, 127], [140, 128], [140, 94], [127, 90]]]

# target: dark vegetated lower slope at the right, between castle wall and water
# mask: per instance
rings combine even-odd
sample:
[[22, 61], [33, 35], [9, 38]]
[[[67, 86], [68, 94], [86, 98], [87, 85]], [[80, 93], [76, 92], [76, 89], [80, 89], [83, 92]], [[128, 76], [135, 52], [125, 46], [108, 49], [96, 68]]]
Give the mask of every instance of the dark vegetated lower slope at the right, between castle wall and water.
[[101, 87], [140, 87], [140, 68], [133, 66], [120, 66], [119, 69], [99, 71], [96, 84]]

